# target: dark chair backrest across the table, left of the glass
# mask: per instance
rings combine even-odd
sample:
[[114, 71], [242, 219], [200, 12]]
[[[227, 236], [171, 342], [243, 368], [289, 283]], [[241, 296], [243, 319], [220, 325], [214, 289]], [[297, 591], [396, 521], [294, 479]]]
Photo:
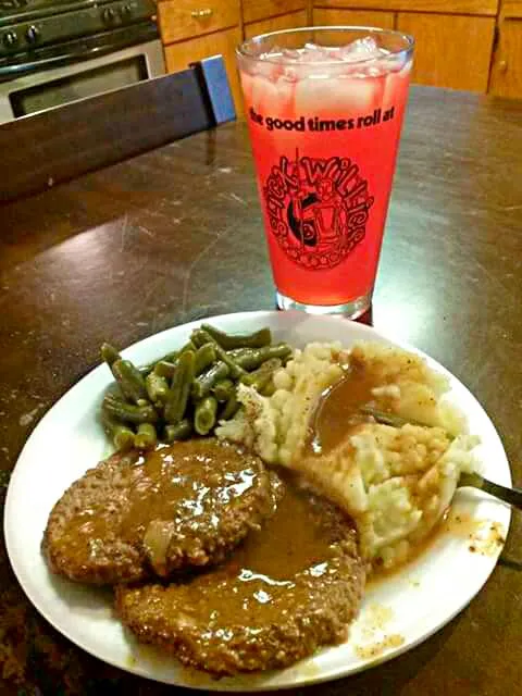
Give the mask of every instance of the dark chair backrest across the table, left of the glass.
[[235, 116], [221, 55], [23, 116], [0, 125], [0, 201], [45, 190]]

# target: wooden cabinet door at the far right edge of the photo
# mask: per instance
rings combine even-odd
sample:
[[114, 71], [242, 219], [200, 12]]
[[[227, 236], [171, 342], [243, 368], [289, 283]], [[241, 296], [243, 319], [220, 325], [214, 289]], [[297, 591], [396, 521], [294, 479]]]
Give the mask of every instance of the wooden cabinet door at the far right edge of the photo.
[[[522, 7], [521, 7], [522, 15]], [[522, 99], [522, 16], [500, 24], [489, 92]]]

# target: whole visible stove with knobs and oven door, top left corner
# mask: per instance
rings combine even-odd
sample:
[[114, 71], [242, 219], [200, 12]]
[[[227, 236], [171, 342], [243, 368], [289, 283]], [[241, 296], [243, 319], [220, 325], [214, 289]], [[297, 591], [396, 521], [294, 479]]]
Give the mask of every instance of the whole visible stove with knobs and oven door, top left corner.
[[0, 124], [165, 74], [156, 0], [0, 0]]

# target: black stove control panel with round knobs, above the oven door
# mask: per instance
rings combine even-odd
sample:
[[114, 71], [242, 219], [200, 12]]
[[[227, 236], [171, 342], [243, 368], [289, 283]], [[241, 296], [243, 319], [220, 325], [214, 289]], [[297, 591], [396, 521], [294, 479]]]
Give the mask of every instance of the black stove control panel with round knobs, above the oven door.
[[0, 0], [0, 80], [158, 38], [153, 0]]

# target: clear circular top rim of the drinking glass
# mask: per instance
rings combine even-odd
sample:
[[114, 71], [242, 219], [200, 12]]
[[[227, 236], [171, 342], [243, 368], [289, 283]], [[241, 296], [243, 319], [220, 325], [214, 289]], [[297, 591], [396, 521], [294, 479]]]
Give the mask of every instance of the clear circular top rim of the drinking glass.
[[[383, 59], [389, 59], [396, 55], [400, 55], [401, 53], [411, 54], [413, 52], [413, 47], [415, 45], [415, 39], [410, 34], [403, 34], [402, 32], [397, 32], [396, 29], [385, 29], [385, 28], [375, 27], [375, 26], [353, 26], [348, 24], [334, 25], [334, 26], [324, 26], [324, 25], [301, 26], [301, 27], [296, 27], [294, 29], [279, 29], [277, 32], [268, 32], [266, 34], [258, 34], [257, 36], [252, 36], [246, 41], [243, 41], [243, 44], [240, 44], [236, 48], [236, 54], [238, 57], [240, 55], [241, 58], [246, 58], [249, 60], [261, 60], [259, 54], [257, 55], [251, 50], [249, 50], [251, 46], [256, 46], [257, 44], [260, 44], [261, 40], [269, 39], [274, 36], [284, 36], [286, 34], [301, 34], [303, 32], [346, 32], [347, 34], [350, 32], [352, 33], [368, 32], [369, 34], [395, 36], [397, 38], [403, 39], [403, 41], [406, 42], [406, 46], [403, 48], [397, 49], [395, 51], [389, 51], [388, 53], [386, 53], [386, 55], [382, 55], [378, 58], [375, 58], [375, 57], [361, 58], [357, 61], [350, 61], [351, 65], [359, 65], [361, 63], [368, 63], [369, 61], [380, 61]], [[270, 57], [263, 57], [262, 61], [264, 63], [276, 63], [276, 64], [281, 64], [282, 62], [285, 62], [285, 61], [282, 61], [281, 58], [270, 58]], [[332, 61], [321, 61], [321, 65], [341, 65], [345, 62], [346, 61], [336, 59]], [[303, 61], [302, 63], [300, 63], [300, 65], [313, 65], [313, 64], [314, 64], [313, 61]], [[315, 65], [316, 64], [318, 63], [315, 63]]]

